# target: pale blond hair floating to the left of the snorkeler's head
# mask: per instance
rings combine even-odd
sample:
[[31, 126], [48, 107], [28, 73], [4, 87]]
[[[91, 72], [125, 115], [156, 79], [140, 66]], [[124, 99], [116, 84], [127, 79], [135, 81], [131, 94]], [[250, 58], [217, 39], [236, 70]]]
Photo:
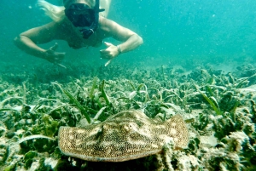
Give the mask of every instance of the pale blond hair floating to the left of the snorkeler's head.
[[60, 21], [65, 18], [64, 6], [56, 6], [44, 0], [38, 0], [38, 6], [54, 21]]

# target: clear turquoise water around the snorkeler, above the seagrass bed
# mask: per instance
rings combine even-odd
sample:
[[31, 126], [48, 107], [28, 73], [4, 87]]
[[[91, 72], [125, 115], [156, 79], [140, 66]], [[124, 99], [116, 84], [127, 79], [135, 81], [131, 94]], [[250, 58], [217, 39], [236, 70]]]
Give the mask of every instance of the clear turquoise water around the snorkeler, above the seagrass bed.
[[[49, 2], [61, 5], [60, 0]], [[2, 61], [18, 66], [46, 62], [21, 53], [12, 42], [20, 32], [50, 21], [35, 3], [36, 0], [1, 1]], [[243, 61], [256, 58], [255, 9], [253, 0], [113, 0], [108, 18], [136, 31], [144, 40], [142, 47], [123, 54], [119, 61], [143, 62], [150, 66], [160, 66], [166, 61], [173, 63], [181, 58]], [[115, 43], [111, 38], [107, 41]], [[53, 43], [55, 41], [43, 47], [48, 48]], [[102, 48], [105, 47], [73, 50], [67, 43], [60, 42], [58, 50], [67, 52], [64, 62], [73, 62], [98, 60], [98, 50]]]

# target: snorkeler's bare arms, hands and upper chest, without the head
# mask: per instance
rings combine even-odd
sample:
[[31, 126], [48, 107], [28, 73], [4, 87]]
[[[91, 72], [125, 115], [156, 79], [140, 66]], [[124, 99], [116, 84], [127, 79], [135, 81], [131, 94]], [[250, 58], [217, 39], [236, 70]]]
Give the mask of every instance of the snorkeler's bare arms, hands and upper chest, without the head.
[[[67, 18], [64, 18], [61, 21], [52, 21], [44, 26], [38, 26], [20, 33], [18, 37], [15, 37], [15, 45], [27, 54], [48, 60], [51, 63], [60, 64], [65, 57], [65, 53], [55, 51], [58, 46], [57, 43], [49, 49], [40, 48], [38, 44], [49, 43], [53, 40], [64, 40], [73, 48], [97, 47], [101, 45], [102, 40], [106, 37], [113, 37], [122, 42], [119, 44], [121, 53], [131, 51], [143, 43], [143, 38], [139, 37], [134, 31], [100, 16], [98, 29], [88, 39], [84, 39], [79, 29], [74, 27]], [[102, 59], [108, 60], [105, 65], [108, 66], [111, 60], [120, 53], [117, 46], [112, 43], [105, 43], [105, 45], [107, 48], [100, 50], [100, 54]]]

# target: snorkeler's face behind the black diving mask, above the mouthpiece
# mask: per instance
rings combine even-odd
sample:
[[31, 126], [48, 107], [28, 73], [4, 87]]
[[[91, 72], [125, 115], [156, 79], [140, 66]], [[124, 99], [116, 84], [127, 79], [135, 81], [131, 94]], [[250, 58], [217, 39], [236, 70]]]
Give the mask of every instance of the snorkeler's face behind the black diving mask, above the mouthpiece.
[[67, 9], [65, 14], [76, 27], [89, 27], [95, 20], [95, 11], [85, 3], [72, 3]]

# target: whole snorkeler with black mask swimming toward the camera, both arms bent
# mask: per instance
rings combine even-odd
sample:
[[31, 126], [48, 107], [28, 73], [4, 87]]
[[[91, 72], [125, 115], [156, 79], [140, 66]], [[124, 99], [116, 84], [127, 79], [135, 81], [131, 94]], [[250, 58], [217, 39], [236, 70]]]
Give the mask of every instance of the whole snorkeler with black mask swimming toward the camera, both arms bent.
[[[131, 51], [143, 43], [143, 38], [128, 28], [108, 20], [111, 0], [63, 0], [64, 7], [58, 7], [38, 0], [45, 14], [53, 20], [44, 26], [38, 26], [20, 33], [15, 37], [15, 45], [27, 54], [61, 65], [65, 53], [56, 52], [57, 43], [49, 49], [38, 47], [40, 43], [52, 40], [65, 40], [71, 48], [99, 47], [106, 37], [122, 42], [119, 45], [104, 44], [100, 50], [101, 58], [107, 59], [105, 66], [121, 53]], [[105, 9], [100, 7], [104, 6]]]

